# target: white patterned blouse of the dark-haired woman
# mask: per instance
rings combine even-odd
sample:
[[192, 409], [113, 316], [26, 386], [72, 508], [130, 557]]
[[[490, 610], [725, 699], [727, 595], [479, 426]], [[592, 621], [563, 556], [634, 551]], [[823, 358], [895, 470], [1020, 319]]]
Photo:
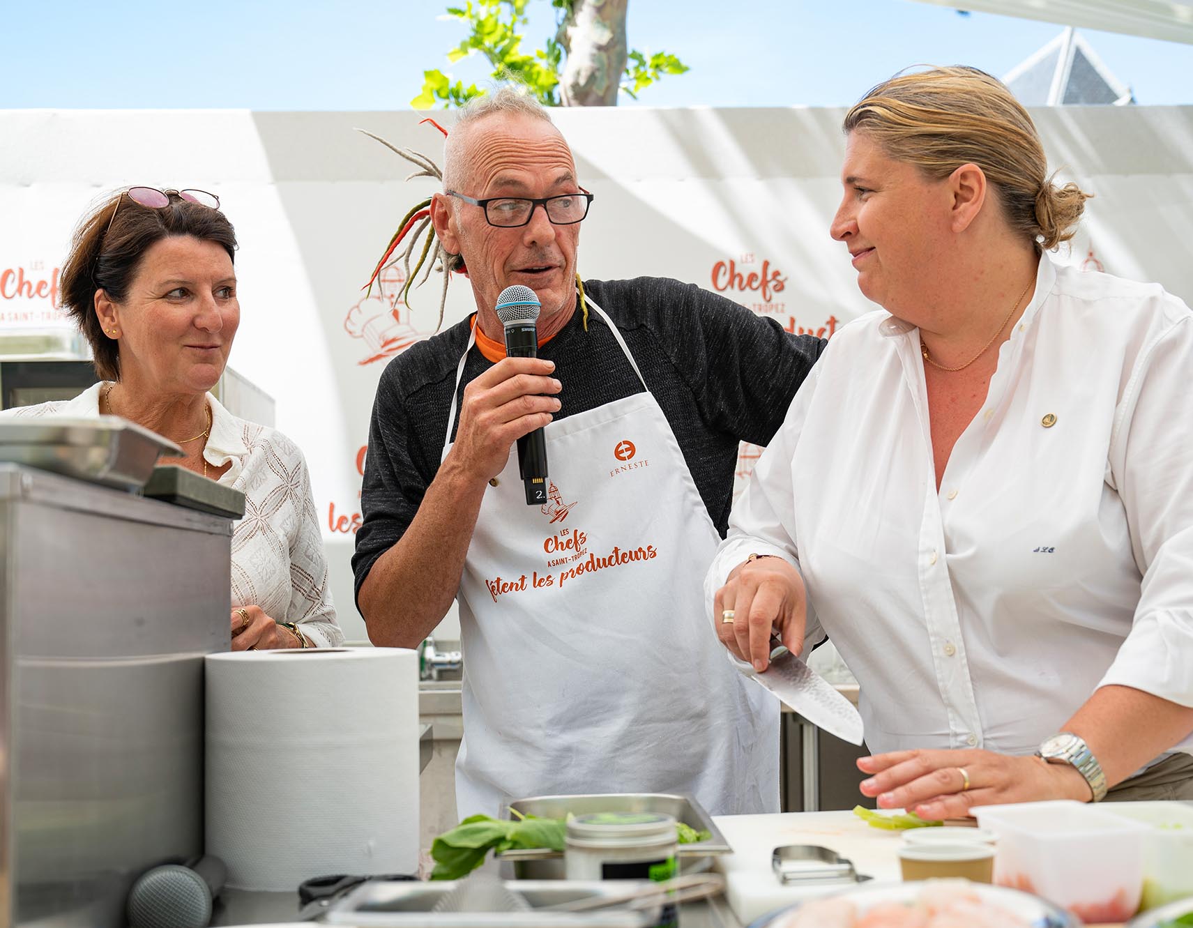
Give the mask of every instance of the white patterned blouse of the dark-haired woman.
[[[5, 415], [99, 415], [98, 383], [74, 400], [7, 410]], [[327, 558], [310, 476], [298, 446], [280, 432], [237, 419], [208, 394], [211, 434], [203, 457], [230, 463], [220, 483], [245, 494], [245, 518], [233, 524], [231, 608], [260, 606], [277, 621], [302, 625], [320, 648], [344, 641], [327, 583]]]

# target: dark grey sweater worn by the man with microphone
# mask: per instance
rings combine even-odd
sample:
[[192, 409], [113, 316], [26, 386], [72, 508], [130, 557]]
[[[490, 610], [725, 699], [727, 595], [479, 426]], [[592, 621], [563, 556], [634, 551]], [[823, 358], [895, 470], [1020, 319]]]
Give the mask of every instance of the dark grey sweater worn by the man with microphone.
[[[771, 440], [824, 340], [790, 335], [772, 318], [667, 278], [586, 280], [585, 291], [620, 329], [724, 537], [738, 443]], [[469, 326], [465, 320], [413, 345], [382, 373], [360, 491], [364, 521], [352, 556], [358, 595], [373, 562], [406, 532], [439, 469]], [[538, 357], [555, 361], [563, 384], [557, 420], [642, 390], [608, 327], [591, 310], [587, 332], [577, 309]], [[460, 392], [490, 366], [474, 347]], [[456, 422], [459, 401], [457, 395]]]

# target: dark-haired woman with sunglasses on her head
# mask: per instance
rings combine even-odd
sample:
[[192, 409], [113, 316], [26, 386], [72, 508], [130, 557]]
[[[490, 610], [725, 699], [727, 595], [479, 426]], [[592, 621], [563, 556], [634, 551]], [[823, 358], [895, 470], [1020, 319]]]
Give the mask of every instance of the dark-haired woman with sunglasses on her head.
[[336, 645], [344, 636], [302, 452], [208, 392], [240, 324], [236, 236], [218, 204], [203, 191], [131, 187], [82, 219], [62, 304], [104, 379], [12, 415], [118, 415], [175, 441], [185, 456], [165, 463], [246, 495], [231, 542], [233, 649]]

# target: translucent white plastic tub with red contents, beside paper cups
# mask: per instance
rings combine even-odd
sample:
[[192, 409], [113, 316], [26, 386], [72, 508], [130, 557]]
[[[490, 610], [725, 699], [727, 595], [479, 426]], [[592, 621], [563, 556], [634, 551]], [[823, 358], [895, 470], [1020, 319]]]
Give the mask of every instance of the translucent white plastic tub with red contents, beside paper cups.
[[1086, 922], [1124, 922], [1139, 908], [1145, 825], [1071, 800], [973, 813], [999, 836], [996, 884], [1043, 896]]

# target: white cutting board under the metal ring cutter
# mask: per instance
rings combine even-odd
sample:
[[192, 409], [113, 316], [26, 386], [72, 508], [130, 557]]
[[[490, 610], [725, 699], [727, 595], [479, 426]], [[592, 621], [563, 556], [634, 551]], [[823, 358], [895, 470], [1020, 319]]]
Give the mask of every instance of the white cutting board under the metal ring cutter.
[[742, 924], [784, 905], [841, 890], [840, 884], [781, 885], [771, 868], [771, 852], [781, 845], [820, 845], [848, 858], [859, 873], [876, 880], [902, 879], [898, 848], [903, 833], [871, 828], [853, 812], [729, 815], [712, 821], [734, 849], [716, 859], [716, 868], [725, 874], [725, 898]]

